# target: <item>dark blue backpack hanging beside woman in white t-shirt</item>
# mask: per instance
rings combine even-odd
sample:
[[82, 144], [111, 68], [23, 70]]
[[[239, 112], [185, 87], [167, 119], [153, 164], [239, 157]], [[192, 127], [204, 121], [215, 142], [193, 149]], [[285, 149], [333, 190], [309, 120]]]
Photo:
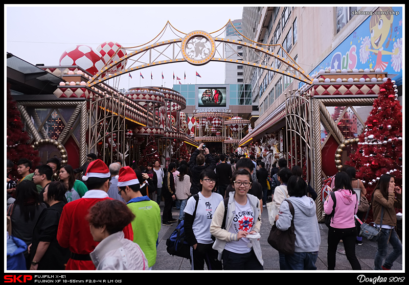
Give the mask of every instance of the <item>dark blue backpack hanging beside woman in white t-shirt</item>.
[[[196, 200], [195, 210], [193, 212], [193, 217], [196, 216], [197, 204], [199, 203], [199, 195], [193, 195]], [[166, 251], [170, 255], [176, 255], [184, 258], [190, 259], [190, 246], [185, 240], [185, 221], [181, 221], [176, 229], [169, 236], [169, 239], [166, 240]]]

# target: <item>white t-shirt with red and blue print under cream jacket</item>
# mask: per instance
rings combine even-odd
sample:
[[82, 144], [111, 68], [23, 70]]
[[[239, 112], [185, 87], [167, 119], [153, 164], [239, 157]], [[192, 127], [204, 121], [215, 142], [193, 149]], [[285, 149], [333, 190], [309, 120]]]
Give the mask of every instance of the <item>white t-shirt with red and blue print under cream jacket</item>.
[[[236, 210], [233, 213], [233, 222], [228, 229], [229, 232], [238, 233], [239, 230], [251, 232], [256, 221], [254, 219], [254, 213], [252, 211], [252, 207], [250, 206], [250, 202], [247, 199], [247, 203], [244, 206], [237, 202], [235, 203]], [[248, 239], [241, 238], [238, 241], [226, 243], [224, 249], [239, 254], [247, 253], [252, 250], [251, 247], [248, 247], [248, 244], [251, 244]]]

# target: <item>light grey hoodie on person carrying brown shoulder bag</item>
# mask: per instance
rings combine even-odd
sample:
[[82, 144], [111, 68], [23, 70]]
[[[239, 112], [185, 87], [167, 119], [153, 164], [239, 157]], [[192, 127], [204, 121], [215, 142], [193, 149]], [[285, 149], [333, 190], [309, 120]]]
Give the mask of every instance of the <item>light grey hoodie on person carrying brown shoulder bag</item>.
[[286, 200], [294, 207], [294, 229], [296, 232], [295, 252], [316, 252], [320, 248], [321, 236], [316, 218], [315, 202], [307, 196], [289, 197], [280, 206], [276, 226], [286, 230], [291, 226], [292, 215]]

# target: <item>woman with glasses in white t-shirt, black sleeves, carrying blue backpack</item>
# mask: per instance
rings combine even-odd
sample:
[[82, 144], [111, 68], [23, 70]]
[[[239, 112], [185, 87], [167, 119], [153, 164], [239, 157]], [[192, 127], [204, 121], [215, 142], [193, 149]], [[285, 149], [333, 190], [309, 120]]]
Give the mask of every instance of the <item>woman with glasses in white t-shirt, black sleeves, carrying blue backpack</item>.
[[213, 170], [203, 170], [199, 179], [201, 191], [189, 198], [184, 210], [192, 270], [203, 270], [205, 262], [208, 270], [222, 270], [217, 251], [212, 248], [213, 239], [209, 228], [214, 211], [223, 197], [213, 192], [216, 189], [216, 173]]

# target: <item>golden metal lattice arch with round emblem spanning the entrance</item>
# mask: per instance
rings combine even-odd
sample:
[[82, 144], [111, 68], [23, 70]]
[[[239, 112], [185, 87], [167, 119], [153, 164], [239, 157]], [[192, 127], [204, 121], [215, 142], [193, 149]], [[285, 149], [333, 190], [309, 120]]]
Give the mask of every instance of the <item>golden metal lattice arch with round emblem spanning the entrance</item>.
[[[104, 67], [87, 82], [88, 87], [136, 70], [177, 62], [188, 62], [192, 65], [203, 65], [209, 62], [249, 65], [283, 74], [308, 85], [312, 84], [312, 79], [285, 52], [281, 44], [263, 44], [252, 41], [240, 34], [235, 28], [237, 35], [243, 40], [220, 37], [220, 35], [224, 34], [229, 23], [234, 28], [231, 20], [229, 20], [223, 28], [216, 32], [207, 33], [197, 30], [183, 33], [176, 30], [168, 21], [161, 33], [151, 41], [139, 46], [119, 47]], [[162, 40], [161, 38], [165, 37], [165, 32], [168, 29], [177, 37]], [[237, 48], [234, 48], [237, 45], [242, 46], [243, 49], [248, 49], [251, 53], [256, 53], [256, 60], [249, 61], [239, 55]], [[281, 46], [281, 51], [286, 57], [272, 52], [275, 46]], [[233, 51], [233, 53], [226, 57], [226, 51]], [[124, 56], [119, 61], [115, 61], [113, 59], [117, 54], [123, 54]], [[233, 59], [233, 56], [235, 59]], [[237, 59], [237, 56], [240, 59]], [[275, 60], [269, 63], [271, 58]]]

